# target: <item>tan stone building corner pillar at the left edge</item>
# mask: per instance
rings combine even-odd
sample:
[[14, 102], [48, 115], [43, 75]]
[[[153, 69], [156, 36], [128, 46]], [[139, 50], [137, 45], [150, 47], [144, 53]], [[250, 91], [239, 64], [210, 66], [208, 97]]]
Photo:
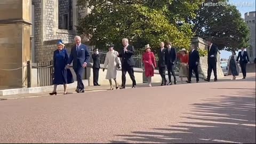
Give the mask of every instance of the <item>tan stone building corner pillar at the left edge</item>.
[[0, 86], [26, 86], [23, 66], [31, 60], [30, 4], [30, 0], [0, 1], [0, 69], [15, 69], [0, 70]]

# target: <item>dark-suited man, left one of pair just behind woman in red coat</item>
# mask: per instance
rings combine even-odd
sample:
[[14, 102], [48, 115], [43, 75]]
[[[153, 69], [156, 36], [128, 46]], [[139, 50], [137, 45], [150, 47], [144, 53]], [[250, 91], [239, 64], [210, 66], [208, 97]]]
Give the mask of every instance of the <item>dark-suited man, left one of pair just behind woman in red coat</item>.
[[165, 52], [166, 49], [164, 48], [164, 42], [160, 43], [160, 49], [157, 51], [157, 57], [158, 57], [158, 70], [159, 74], [162, 77], [162, 84], [161, 85], [166, 85], [166, 78], [165, 78]]

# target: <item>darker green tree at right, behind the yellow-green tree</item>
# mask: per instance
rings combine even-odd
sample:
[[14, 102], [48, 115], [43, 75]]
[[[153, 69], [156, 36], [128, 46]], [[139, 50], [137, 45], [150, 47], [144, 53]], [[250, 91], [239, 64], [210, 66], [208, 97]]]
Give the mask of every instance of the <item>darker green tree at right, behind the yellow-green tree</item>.
[[231, 51], [241, 46], [247, 47], [250, 31], [236, 7], [231, 5], [207, 6], [207, 2], [210, 0], [206, 0], [205, 4], [198, 9], [196, 19], [190, 19], [194, 25], [195, 36], [212, 37], [220, 50]]

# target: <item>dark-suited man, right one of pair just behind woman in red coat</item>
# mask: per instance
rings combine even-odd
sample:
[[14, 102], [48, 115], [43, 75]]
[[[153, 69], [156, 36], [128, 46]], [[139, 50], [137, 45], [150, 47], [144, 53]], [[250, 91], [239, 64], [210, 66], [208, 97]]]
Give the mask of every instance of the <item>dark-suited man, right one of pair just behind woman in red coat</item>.
[[171, 42], [167, 42], [166, 43], [167, 49], [165, 50], [165, 63], [167, 66], [167, 70], [168, 70], [168, 77], [169, 77], [169, 84], [168, 85], [172, 85], [172, 78], [171, 78], [171, 73], [172, 76], [174, 78], [174, 84], [177, 84], [177, 79], [175, 77], [175, 62], [176, 62], [176, 58], [177, 58], [177, 53], [174, 47], [172, 47], [172, 43]]

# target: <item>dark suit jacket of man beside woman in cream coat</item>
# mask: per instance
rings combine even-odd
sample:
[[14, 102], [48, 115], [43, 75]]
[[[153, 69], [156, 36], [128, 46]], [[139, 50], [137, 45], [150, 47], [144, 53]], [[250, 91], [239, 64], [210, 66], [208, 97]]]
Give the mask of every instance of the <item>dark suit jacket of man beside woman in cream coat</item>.
[[127, 46], [127, 51], [120, 50], [119, 56], [121, 59], [122, 66], [134, 66], [134, 60], [132, 55], [134, 54], [134, 47], [132, 45]]

